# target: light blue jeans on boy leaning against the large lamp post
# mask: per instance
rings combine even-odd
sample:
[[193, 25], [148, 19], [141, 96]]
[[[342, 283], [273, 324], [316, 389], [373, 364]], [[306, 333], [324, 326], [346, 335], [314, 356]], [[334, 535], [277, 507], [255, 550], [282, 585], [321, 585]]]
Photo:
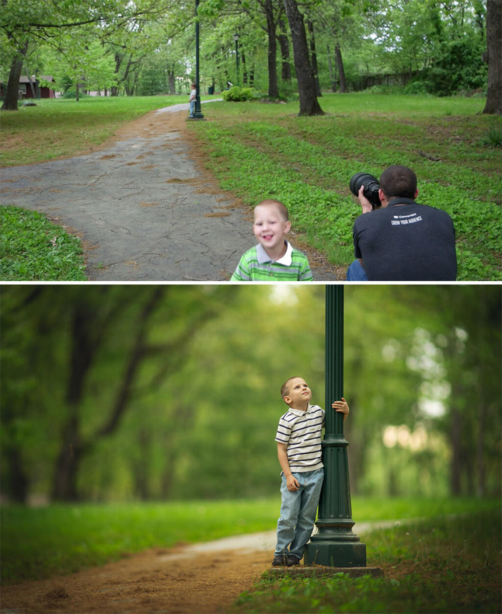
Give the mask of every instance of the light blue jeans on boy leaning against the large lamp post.
[[293, 473], [300, 488], [289, 492], [283, 475], [281, 484], [281, 515], [277, 521], [277, 545], [275, 556], [294, 554], [299, 559], [304, 556], [312, 529], [323, 486], [324, 469]]

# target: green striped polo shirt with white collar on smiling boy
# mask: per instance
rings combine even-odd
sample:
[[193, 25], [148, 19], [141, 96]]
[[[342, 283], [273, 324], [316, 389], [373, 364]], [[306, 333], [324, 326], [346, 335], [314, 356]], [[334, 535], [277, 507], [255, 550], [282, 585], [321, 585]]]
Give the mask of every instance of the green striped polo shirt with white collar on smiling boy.
[[261, 244], [243, 254], [230, 281], [312, 281], [307, 256], [286, 241], [286, 254], [271, 260]]

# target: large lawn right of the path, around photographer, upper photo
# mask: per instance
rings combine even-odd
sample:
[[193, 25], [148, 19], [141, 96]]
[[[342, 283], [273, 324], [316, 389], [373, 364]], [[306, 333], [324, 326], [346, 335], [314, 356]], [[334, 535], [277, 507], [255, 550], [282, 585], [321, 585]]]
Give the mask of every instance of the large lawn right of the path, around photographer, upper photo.
[[321, 106], [323, 117], [297, 117], [297, 103], [216, 103], [210, 121], [189, 128], [222, 188], [251, 206], [283, 201], [293, 230], [343, 268], [361, 212], [350, 177], [410, 166], [417, 201], [453, 218], [458, 280], [502, 279], [501, 152], [486, 145], [500, 119], [477, 115], [482, 100], [348, 94], [324, 95]]

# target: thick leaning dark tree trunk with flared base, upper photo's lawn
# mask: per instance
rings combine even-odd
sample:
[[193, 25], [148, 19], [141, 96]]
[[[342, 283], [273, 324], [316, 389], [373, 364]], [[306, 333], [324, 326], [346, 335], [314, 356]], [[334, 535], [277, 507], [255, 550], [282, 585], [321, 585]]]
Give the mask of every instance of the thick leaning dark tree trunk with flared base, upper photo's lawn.
[[300, 98], [299, 115], [324, 115], [324, 111], [316, 98], [315, 79], [308, 58], [304, 16], [298, 10], [296, 0], [284, 0], [284, 8], [286, 9], [293, 43], [294, 67]]

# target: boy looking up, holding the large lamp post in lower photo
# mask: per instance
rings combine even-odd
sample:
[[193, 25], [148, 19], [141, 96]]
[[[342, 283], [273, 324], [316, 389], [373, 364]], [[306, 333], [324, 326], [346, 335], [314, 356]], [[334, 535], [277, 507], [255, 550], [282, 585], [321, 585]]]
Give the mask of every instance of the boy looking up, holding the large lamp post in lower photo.
[[[277, 521], [277, 545], [272, 565], [292, 567], [304, 556], [314, 526], [324, 479], [321, 429], [324, 410], [310, 405], [312, 391], [303, 378], [286, 380], [281, 397], [289, 410], [281, 416], [275, 441], [282, 468], [281, 515]], [[345, 398], [331, 407], [348, 416]], [[289, 550], [288, 550], [289, 546]]]

